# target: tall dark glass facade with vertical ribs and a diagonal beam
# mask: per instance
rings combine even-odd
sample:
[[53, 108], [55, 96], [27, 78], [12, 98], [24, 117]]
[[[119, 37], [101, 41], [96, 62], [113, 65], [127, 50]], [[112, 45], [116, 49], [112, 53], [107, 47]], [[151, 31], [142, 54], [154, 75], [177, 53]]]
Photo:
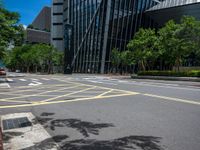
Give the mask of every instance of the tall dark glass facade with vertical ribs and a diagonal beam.
[[[53, 1], [55, 3], [58, 0]], [[63, 36], [63, 50], [68, 56], [65, 67], [70, 66], [74, 72], [81, 73], [109, 72], [112, 67], [112, 49], [124, 51], [141, 27], [158, 28], [161, 24], [156, 19], [155, 9], [167, 9], [164, 6], [170, 5], [173, 7], [172, 3], [175, 1], [177, 0], [60, 0], [60, 15], [63, 17], [60, 35]], [[178, 6], [184, 5], [182, 2], [185, 0], [178, 1]], [[193, 1], [197, 3], [199, 0]]]

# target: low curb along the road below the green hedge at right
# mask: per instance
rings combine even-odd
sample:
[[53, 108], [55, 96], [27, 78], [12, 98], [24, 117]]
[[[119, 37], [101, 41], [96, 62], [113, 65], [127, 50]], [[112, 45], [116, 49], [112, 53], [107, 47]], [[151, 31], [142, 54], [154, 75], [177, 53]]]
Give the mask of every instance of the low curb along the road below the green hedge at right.
[[195, 77], [167, 77], [167, 76], [131, 76], [132, 79], [151, 79], [151, 80], [169, 80], [169, 81], [191, 81], [200, 82], [200, 78]]

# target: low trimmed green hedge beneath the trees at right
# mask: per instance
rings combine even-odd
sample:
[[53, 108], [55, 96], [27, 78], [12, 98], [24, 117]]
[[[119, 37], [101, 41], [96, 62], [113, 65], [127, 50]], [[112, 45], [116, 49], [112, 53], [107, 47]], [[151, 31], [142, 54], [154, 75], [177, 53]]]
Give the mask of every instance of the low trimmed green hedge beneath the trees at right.
[[173, 76], [173, 77], [200, 77], [200, 70], [192, 70], [192, 71], [141, 71], [138, 72], [140, 76]]

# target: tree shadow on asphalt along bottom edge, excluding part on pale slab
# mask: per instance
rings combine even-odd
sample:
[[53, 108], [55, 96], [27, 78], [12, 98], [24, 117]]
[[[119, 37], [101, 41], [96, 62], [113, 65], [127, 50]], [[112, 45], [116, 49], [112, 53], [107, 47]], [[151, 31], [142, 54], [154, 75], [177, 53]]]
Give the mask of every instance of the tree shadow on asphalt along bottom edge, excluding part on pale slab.
[[62, 150], [164, 150], [161, 138], [152, 136], [128, 136], [110, 141], [79, 139], [65, 142]]

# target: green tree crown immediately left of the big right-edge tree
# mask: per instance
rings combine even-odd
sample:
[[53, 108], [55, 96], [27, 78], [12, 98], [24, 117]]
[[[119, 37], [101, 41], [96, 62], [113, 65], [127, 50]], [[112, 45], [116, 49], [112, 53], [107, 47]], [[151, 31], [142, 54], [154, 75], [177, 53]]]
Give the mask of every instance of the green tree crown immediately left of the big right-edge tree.
[[137, 62], [139, 70], [146, 70], [157, 59], [158, 53], [158, 38], [155, 30], [140, 29], [128, 45], [128, 50], [132, 51], [133, 60]]

